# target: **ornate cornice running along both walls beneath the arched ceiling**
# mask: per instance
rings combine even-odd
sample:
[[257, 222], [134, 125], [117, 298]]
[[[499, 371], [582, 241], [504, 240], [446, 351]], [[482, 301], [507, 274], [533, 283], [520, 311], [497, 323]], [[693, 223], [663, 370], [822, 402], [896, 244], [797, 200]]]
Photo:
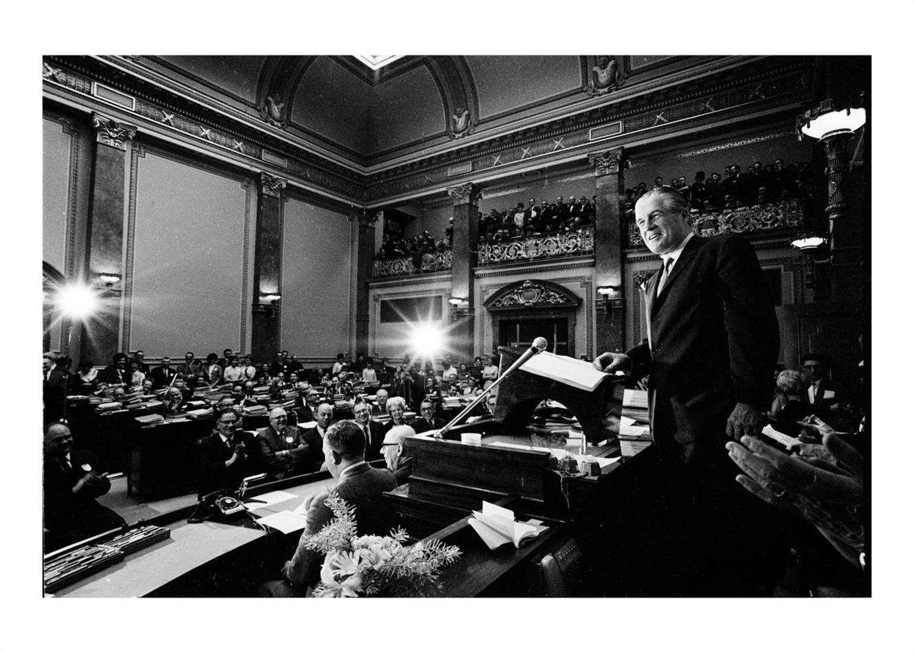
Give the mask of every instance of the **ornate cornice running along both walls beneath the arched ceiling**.
[[[614, 139], [631, 140], [632, 134], [669, 129], [675, 123], [696, 117], [754, 105], [771, 105], [772, 100], [802, 100], [808, 96], [810, 86], [807, 59], [754, 59], [654, 91], [638, 92], [639, 85], [634, 83], [632, 86], [633, 82], [629, 80], [624, 93], [611, 102], [606, 102], [604, 97], [599, 105], [585, 111], [579, 111], [579, 105], [569, 106], [569, 110], [579, 112], [510, 134], [493, 135], [440, 154], [422, 157], [419, 153], [408, 164], [370, 174], [341, 166], [309, 150], [307, 145], [293, 144], [279, 128], [273, 129], [275, 135], [263, 131], [260, 116], [247, 115], [205, 99], [188, 99], [163, 82], [137, 77], [142, 71], [129, 70], [133, 65], [127, 61], [118, 61], [128, 69], [123, 70], [100, 58], [48, 56], [43, 61], [42, 78], [46, 85], [62, 90], [60, 92], [91, 98], [93, 103], [99, 102], [99, 106], [111, 104], [110, 98], [101, 97], [94, 90], [96, 82], [101, 82], [132, 98], [133, 108], [118, 105], [119, 109], [133, 112], [155, 125], [151, 131], [175, 131], [254, 161], [273, 163], [279, 158], [281, 163], [276, 166], [284, 168], [290, 179], [301, 180], [305, 187], [321, 188], [357, 204], [377, 205], [385, 199], [438, 191], [449, 184], [456, 186], [480, 174], [491, 177], [502, 168], [509, 172], [512, 168], [531, 164], [547, 165], [551, 160], [569, 155], [585, 158], [587, 153], [580, 150], [592, 149], [598, 142], [609, 145]], [[469, 121], [476, 110], [473, 99], [464, 96], [462, 101], [469, 105]], [[456, 98], [454, 102], [452, 111], [456, 112]], [[285, 109], [288, 114], [288, 107]], [[282, 109], [275, 115], [282, 122]], [[450, 120], [452, 115], [446, 117]], [[608, 123], [620, 123], [618, 131], [591, 141], [591, 128]], [[461, 133], [469, 130], [469, 126], [464, 130], [459, 120], [454, 128]]]

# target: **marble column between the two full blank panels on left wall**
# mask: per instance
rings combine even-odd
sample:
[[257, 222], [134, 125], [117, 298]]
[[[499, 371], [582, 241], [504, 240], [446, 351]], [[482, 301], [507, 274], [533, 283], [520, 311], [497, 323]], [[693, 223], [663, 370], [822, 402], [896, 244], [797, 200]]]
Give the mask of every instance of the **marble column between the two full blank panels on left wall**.
[[254, 236], [254, 301], [250, 353], [258, 364], [273, 359], [280, 346], [282, 299], [282, 189], [286, 180], [260, 173]]

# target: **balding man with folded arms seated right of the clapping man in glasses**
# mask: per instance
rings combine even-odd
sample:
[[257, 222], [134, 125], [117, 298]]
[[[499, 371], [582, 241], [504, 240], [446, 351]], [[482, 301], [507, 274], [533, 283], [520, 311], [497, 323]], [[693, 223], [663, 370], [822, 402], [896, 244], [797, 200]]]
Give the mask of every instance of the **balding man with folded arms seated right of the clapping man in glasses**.
[[314, 429], [302, 432], [289, 426], [284, 408], [270, 412], [270, 426], [257, 433], [260, 457], [267, 467], [267, 476], [277, 480], [317, 471], [321, 465], [321, 438]]

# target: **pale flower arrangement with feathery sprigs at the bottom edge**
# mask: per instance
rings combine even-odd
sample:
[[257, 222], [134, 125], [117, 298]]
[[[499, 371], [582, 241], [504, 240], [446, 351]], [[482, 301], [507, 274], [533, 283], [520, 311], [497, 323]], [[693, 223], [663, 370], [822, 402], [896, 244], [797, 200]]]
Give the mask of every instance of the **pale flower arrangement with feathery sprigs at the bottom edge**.
[[307, 538], [305, 546], [325, 553], [314, 596], [429, 596], [440, 594], [441, 567], [456, 561], [460, 549], [440, 541], [406, 546], [405, 530], [388, 536], [356, 536], [356, 508], [337, 494], [326, 499], [334, 519]]

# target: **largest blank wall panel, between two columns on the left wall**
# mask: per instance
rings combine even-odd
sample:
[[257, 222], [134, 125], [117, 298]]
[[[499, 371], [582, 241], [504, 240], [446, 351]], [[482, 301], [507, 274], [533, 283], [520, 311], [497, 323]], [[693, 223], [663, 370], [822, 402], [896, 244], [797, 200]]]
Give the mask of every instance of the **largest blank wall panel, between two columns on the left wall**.
[[248, 201], [237, 179], [152, 152], [137, 161], [131, 349], [205, 357], [244, 347]]

